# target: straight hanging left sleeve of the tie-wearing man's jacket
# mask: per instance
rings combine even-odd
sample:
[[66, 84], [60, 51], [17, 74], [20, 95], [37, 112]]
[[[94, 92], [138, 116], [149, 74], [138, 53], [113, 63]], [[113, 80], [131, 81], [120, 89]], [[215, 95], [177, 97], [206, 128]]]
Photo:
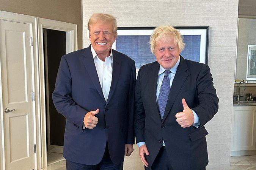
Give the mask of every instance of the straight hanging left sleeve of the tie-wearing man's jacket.
[[141, 87], [140, 87], [140, 76], [141, 69], [138, 72], [138, 77], [136, 80], [135, 87], [135, 115], [134, 115], [134, 128], [136, 142], [143, 142], [144, 139], [144, 129], [145, 129], [145, 110], [143, 102], [141, 99]]

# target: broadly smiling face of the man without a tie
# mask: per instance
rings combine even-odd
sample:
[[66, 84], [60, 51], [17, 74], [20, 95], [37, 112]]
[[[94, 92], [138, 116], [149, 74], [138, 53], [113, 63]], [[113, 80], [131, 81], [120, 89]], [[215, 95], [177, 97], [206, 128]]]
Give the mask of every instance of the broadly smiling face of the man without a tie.
[[109, 23], [97, 22], [90, 25], [90, 41], [99, 57], [108, 57], [116, 36], [113, 26]]

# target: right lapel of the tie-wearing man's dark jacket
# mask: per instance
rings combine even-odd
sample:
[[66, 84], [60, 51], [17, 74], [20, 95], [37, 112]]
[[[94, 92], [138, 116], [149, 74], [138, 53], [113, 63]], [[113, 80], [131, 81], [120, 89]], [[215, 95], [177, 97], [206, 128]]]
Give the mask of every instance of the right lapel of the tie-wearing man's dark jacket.
[[188, 70], [187, 63], [182, 56], [180, 57], [181, 57], [181, 61], [179, 63], [179, 66], [177, 68], [176, 74], [173, 79], [173, 83], [171, 85], [171, 90], [168, 96], [168, 100], [165, 108], [165, 114], [163, 115], [162, 122], [165, 121], [167, 115], [169, 114], [171, 107], [173, 106], [173, 103], [176, 100], [176, 97], [188, 76], [188, 73], [186, 72]]

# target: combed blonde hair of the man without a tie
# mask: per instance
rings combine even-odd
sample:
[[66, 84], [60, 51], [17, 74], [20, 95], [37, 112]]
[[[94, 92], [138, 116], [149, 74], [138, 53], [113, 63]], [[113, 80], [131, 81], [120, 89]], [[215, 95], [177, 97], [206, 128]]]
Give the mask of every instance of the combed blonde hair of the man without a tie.
[[103, 14], [103, 13], [94, 13], [91, 15], [91, 18], [88, 21], [88, 29], [90, 31], [90, 26], [93, 25], [96, 22], [103, 22], [103, 23], [110, 23], [113, 26], [113, 34], [117, 36], [117, 23], [116, 23], [116, 18], [113, 17], [113, 15], [110, 14]]

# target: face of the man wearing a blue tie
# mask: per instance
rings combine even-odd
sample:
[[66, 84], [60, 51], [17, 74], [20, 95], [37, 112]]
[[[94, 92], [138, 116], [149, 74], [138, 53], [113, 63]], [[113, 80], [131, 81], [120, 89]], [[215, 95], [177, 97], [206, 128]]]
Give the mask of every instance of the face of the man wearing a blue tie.
[[157, 62], [166, 70], [172, 68], [179, 60], [181, 50], [174, 43], [174, 37], [168, 36], [157, 42], [155, 57]]

